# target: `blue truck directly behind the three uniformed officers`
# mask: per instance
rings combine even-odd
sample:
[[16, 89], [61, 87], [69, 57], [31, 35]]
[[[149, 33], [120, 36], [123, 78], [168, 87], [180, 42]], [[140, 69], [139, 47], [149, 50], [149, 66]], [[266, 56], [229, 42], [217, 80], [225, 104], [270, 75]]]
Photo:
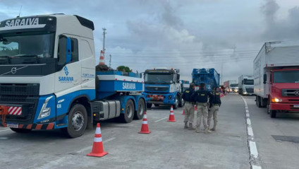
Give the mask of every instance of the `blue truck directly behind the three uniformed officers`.
[[192, 82], [195, 86], [200, 86], [200, 83], [206, 84], [206, 89], [212, 91], [213, 88], [219, 87], [220, 75], [212, 69], [193, 69]]

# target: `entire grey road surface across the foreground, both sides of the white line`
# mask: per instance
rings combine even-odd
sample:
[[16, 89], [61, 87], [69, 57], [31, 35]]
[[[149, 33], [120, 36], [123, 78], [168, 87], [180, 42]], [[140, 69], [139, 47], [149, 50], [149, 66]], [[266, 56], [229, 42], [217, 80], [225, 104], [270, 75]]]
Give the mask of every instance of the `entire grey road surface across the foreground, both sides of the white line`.
[[[298, 115], [271, 119], [245, 97], [250, 110], [262, 168], [298, 168], [298, 144], [276, 141], [271, 135], [298, 136]], [[169, 107], [147, 111], [151, 134], [138, 134], [142, 120], [130, 124], [101, 122], [102, 158], [86, 156], [94, 130], [66, 139], [59, 130], [17, 134], [0, 128], [0, 168], [250, 168], [244, 102], [239, 95], [222, 98], [219, 124], [212, 134], [183, 129], [183, 108], [177, 122], [166, 122]]]

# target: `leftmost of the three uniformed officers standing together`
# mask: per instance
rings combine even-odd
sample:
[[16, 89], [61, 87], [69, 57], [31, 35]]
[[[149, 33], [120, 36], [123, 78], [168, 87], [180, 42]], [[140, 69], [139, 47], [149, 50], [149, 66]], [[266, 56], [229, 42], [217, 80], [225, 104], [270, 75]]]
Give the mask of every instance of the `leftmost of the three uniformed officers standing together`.
[[[192, 98], [195, 88], [194, 83], [190, 83], [190, 88], [186, 89], [183, 93], [183, 100], [185, 100], [184, 110], [185, 110], [185, 127], [184, 129], [194, 129], [193, 128], [193, 119], [194, 119], [194, 100]], [[188, 127], [189, 122], [189, 127]]]

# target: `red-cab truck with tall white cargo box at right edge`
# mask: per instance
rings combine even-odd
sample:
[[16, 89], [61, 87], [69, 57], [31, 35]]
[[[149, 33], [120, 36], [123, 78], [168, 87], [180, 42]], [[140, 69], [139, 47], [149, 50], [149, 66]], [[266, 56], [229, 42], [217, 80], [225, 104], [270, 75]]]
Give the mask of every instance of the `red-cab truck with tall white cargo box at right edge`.
[[299, 112], [299, 43], [266, 42], [253, 62], [257, 107], [276, 112]]

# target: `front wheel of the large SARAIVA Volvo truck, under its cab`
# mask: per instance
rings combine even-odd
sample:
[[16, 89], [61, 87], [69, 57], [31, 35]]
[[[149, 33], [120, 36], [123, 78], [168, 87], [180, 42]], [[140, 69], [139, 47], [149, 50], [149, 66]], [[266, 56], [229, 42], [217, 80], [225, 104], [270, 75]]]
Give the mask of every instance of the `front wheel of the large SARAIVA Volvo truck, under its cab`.
[[61, 129], [70, 138], [82, 136], [87, 127], [87, 111], [81, 104], [75, 104], [68, 113], [68, 127]]

